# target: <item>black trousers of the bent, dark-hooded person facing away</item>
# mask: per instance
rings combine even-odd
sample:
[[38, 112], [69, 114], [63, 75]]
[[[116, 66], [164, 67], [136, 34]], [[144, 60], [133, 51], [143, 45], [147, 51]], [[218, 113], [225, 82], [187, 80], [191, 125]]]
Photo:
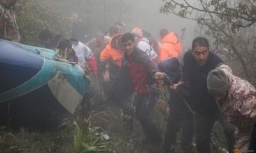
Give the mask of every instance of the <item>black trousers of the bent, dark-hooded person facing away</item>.
[[177, 94], [172, 94], [170, 99], [170, 113], [164, 138], [164, 150], [166, 153], [174, 152], [177, 142], [177, 133], [179, 133], [180, 129], [182, 131], [181, 149], [186, 153], [191, 152], [194, 133], [193, 114], [189, 111], [183, 99]]

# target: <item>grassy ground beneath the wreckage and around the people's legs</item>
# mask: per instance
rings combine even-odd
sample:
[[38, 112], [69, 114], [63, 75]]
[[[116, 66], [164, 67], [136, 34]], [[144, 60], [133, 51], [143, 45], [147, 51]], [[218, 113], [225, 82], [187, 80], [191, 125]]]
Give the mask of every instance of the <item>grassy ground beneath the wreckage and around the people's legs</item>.
[[[157, 104], [156, 108], [159, 107], [161, 108], [162, 105], [158, 106]], [[164, 134], [166, 116], [163, 115], [161, 109], [154, 110], [152, 119], [156, 123], [157, 128]], [[81, 117], [81, 113], [78, 112], [74, 117], [67, 119], [67, 126], [51, 132], [30, 131], [24, 128], [8, 131], [2, 127], [0, 128], [0, 152], [80, 153], [80, 148], [88, 149], [92, 146], [98, 146], [98, 149], [103, 149], [105, 152], [148, 153], [148, 146], [141, 141], [143, 140], [143, 131], [138, 120], [134, 120], [134, 131], [132, 133], [126, 131], [122, 111], [113, 103], [98, 101], [93, 108], [89, 120], [90, 122], [88, 122], [88, 120], [84, 121]], [[74, 125], [75, 121], [77, 125]], [[83, 127], [85, 128], [83, 129]], [[93, 140], [90, 142], [93, 143], [87, 143], [86, 137], [88, 135], [79, 134], [79, 130], [90, 131], [91, 134], [89, 137]], [[109, 136], [108, 141], [103, 140], [104, 134]], [[180, 140], [177, 140], [177, 149], [179, 149], [179, 143]], [[195, 146], [193, 150], [195, 150]]]

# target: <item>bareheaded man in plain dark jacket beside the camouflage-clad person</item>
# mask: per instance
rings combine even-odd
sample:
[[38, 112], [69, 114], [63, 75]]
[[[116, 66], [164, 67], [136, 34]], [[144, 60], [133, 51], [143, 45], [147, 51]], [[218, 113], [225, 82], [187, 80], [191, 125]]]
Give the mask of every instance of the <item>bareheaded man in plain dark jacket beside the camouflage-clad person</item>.
[[211, 131], [214, 122], [219, 120], [224, 128], [228, 141], [228, 151], [234, 146], [234, 126], [225, 120], [216, 105], [215, 98], [207, 91], [207, 75], [223, 61], [209, 51], [206, 38], [198, 37], [193, 40], [192, 50], [184, 55], [184, 74], [182, 81], [173, 85], [177, 91], [179, 85], [188, 83], [191, 92], [191, 102], [195, 109], [196, 148], [198, 153], [211, 152]]

